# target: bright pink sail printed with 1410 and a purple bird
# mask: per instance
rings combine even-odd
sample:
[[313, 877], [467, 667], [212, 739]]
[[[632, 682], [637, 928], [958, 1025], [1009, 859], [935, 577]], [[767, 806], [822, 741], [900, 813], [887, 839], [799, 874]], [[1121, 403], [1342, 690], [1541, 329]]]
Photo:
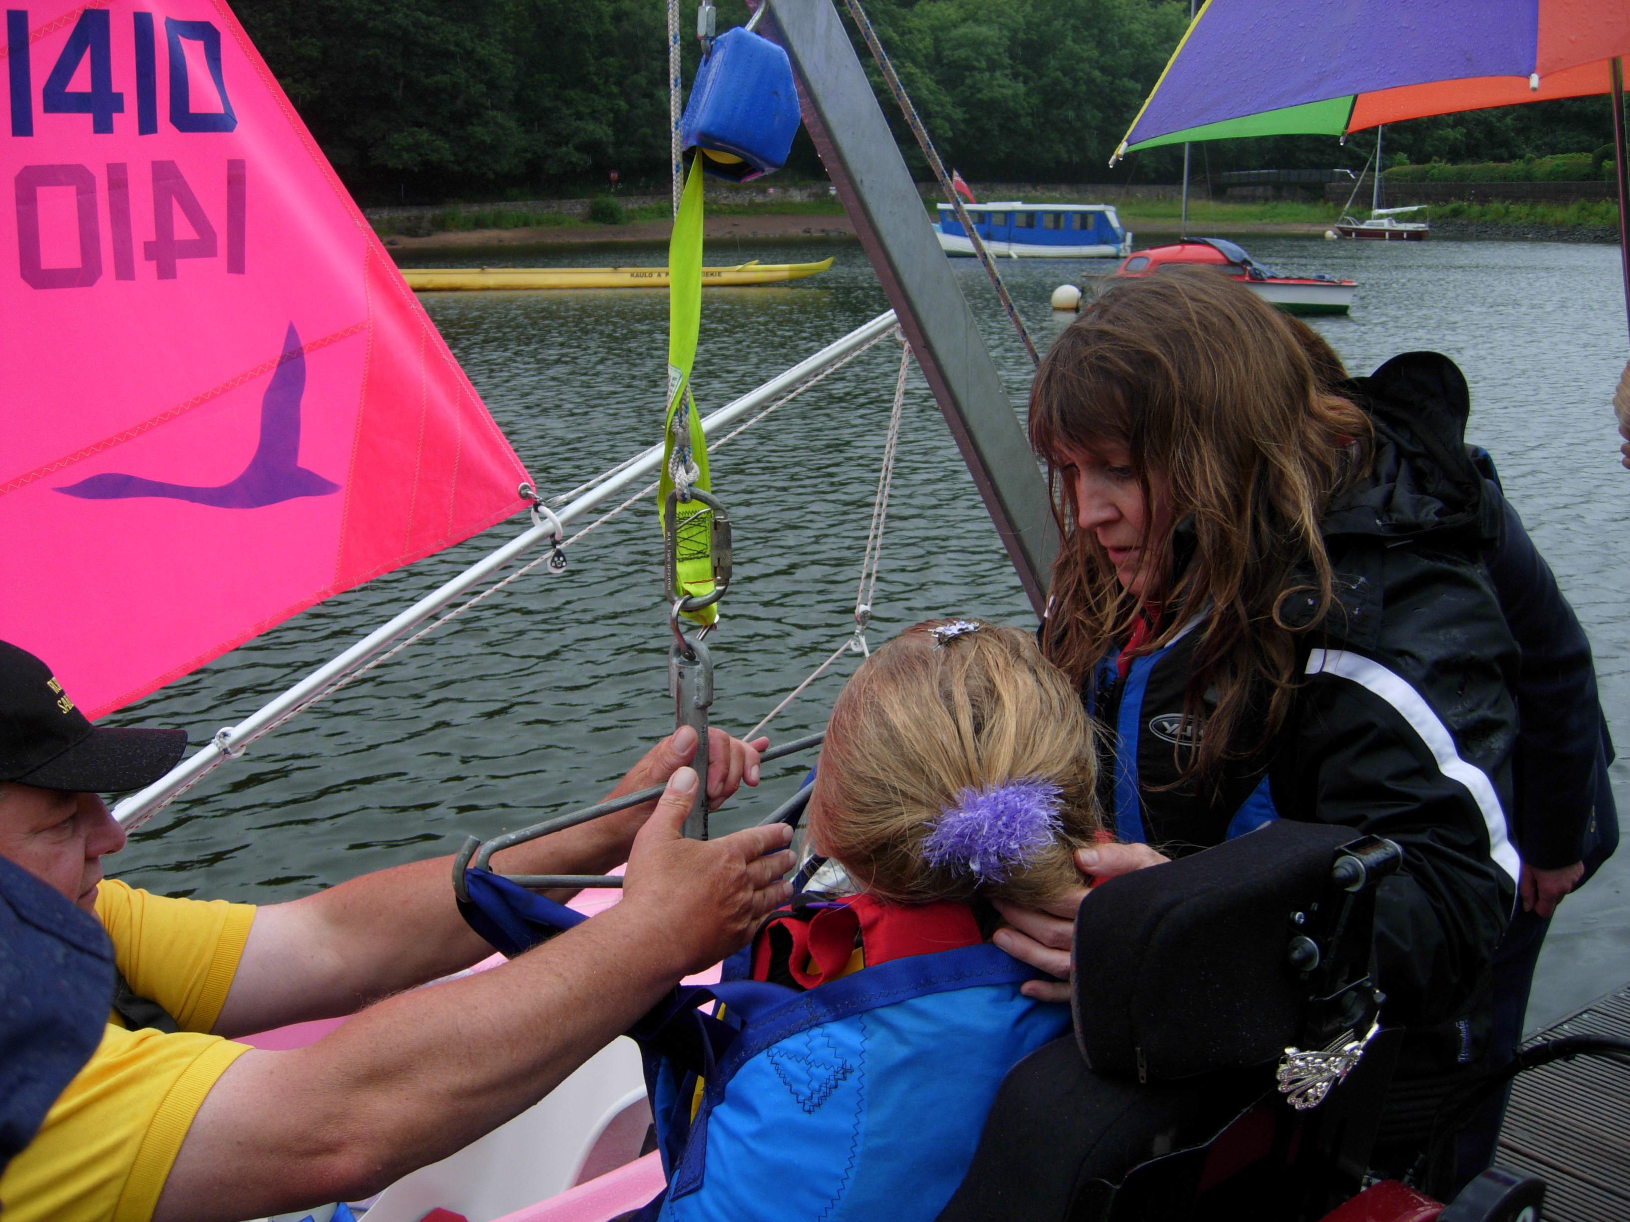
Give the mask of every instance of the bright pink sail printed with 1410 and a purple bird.
[[223, 3], [13, 3], [0, 639], [99, 717], [528, 477]]

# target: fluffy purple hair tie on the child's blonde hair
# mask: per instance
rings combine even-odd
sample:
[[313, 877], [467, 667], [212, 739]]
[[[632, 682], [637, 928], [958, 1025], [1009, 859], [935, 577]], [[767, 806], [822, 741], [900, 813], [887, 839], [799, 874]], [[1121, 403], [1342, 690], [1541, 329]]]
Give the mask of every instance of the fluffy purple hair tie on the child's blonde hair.
[[1027, 777], [988, 789], [965, 789], [923, 841], [931, 865], [965, 868], [981, 883], [1001, 883], [1014, 865], [1045, 849], [1063, 828], [1063, 790]]

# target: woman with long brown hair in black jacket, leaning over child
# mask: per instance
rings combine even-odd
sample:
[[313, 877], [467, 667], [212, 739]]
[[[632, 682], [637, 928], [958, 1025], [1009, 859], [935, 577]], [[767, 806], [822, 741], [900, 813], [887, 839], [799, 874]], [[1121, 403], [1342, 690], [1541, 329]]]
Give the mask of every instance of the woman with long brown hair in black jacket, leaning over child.
[[[1278, 311], [1180, 267], [1094, 301], [1030, 398], [1063, 536], [1042, 645], [1104, 732], [1121, 841], [1082, 867], [1102, 880], [1275, 818], [1400, 844], [1376, 952], [1386, 1022], [1410, 1028], [1382, 1134], [1405, 1160], [1482, 1056], [1518, 877], [1519, 657], [1482, 569], [1500, 507], [1443, 367], [1412, 354], [1387, 367], [1395, 398], [1341, 398]], [[1061, 922], [1004, 912], [1035, 940], [1001, 945], [1068, 969]]]

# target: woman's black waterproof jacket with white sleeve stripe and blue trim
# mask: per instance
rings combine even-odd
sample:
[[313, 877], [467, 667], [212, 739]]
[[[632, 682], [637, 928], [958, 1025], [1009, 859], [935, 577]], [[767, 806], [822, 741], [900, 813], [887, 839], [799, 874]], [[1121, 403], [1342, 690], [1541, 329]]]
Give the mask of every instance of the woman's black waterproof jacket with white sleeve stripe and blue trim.
[[1203, 618], [1125, 679], [1105, 658], [1087, 689], [1113, 730], [1102, 797], [1123, 839], [1178, 855], [1294, 818], [1403, 847], [1379, 896], [1376, 952], [1386, 1020], [1420, 1036], [1400, 1066], [1416, 1077], [1482, 1054], [1490, 958], [1519, 870], [1508, 811], [1521, 657], [1483, 567], [1503, 508], [1464, 446], [1464, 385], [1447, 358], [1407, 354], [1355, 393], [1376, 456], [1322, 523], [1338, 608], [1301, 640], [1304, 683], [1284, 727], [1214, 795], [1175, 784]]

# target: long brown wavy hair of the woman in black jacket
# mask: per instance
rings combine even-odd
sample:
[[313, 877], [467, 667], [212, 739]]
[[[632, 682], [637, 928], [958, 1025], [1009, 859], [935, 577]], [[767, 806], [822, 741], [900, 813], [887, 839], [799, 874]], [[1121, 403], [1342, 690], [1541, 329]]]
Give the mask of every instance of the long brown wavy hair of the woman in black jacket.
[[[1330, 613], [1319, 520], [1332, 494], [1368, 469], [1372, 437], [1359, 407], [1324, 389], [1307, 349], [1244, 284], [1169, 267], [1092, 301], [1030, 391], [1030, 445], [1046, 461], [1063, 536], [1045, 650], [1077, 683], [1125, 640], [1144, 600], [1121, 588], [1094, 533], [1076, 525], [1073, 455], [1120, 443], [1144, 503], [1151, 476], [1167, 490], [1161, 536], [1144, 528], [1143, 556], [1157, 565], [1146, 591], [1161, 618], [1141, 652], [1208, 613], [1177, 735], [1198, 748], [1174, 748], [1185, 782], [1216, 784], [1226, 761], [1283, 725], [1296, 637]], [[1315, 603], [1291, 626], [1283, 608], [1296, 590]]]

